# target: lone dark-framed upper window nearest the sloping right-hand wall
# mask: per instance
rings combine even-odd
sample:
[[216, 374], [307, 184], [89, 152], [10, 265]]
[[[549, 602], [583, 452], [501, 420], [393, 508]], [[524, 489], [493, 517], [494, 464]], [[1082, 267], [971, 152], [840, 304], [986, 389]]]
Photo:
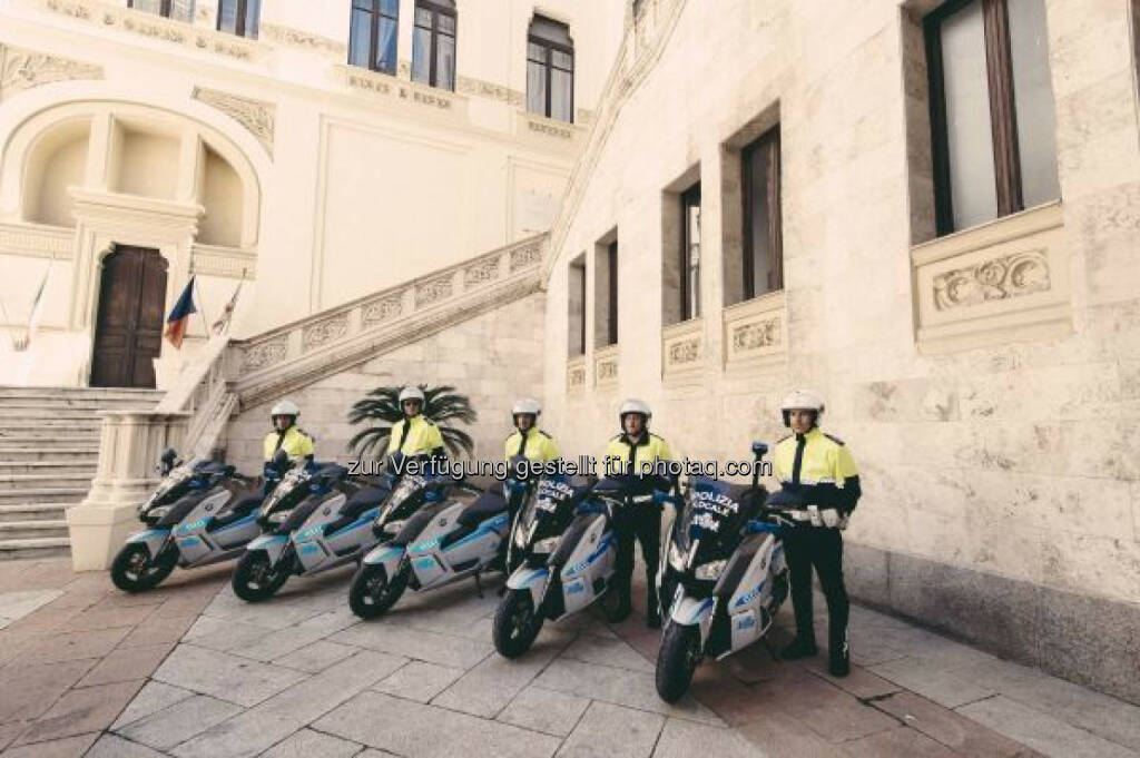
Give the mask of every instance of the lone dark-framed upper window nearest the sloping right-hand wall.
[[573, 40], [570, 27], [543, 16], [527, 36], [527, 111], [573, 121]]

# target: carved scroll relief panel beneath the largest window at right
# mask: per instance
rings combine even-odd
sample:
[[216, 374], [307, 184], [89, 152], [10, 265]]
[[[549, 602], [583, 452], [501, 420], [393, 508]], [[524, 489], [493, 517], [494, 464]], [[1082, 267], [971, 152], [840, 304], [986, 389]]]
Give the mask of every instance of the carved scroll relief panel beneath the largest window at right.
[[938, 310], [1045, 292], [1050, 288], [1049, 258], [1044, 250], [1002, 255], [944, 271], [934, 277], [933, 286]]

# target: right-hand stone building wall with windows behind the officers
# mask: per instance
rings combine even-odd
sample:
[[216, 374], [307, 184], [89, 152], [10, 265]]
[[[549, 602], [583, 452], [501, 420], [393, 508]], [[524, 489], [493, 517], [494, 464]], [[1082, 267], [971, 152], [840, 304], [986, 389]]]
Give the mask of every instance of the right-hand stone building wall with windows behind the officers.
[[1140, 699], [1137, 3], [640, 5], [552, 233], [551, 427], [600, 455], [636, 396], [743, 458], [814, 388], [861, 600]]

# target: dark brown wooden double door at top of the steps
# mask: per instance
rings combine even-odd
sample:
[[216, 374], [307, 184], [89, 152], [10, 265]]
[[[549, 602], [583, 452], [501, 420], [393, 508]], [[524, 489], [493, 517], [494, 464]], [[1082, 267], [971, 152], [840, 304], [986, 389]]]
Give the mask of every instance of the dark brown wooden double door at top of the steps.
[[104, 259], [91, 386], [154, 388], [166, 266], [158, 251], [149, 247], [116, 245]]

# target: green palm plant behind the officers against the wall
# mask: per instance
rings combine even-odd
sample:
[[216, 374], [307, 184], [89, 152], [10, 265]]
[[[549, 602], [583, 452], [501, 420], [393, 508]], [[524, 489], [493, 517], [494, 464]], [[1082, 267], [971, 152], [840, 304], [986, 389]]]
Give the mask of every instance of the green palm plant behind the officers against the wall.
[[[388, 440], [392, 434], [392, 425], [404, 418], [400, 409], [400, 390], [402, 386], [377, 386], [360, 400], [352, 404], [349, 410], [350, 424], [372, 424], [357, 432], [349, 440], [349, 448], [360, 455], [368, 453], [383, 454], [388, 449]], [[471, 454], [474, 440], [461, 429], [447, 422], [474, 423], [479, 417], [471, 407], [471, 400], [465, 394], [455, 392], [449, 384], [429, 388], [421, 384], [424, 393], [423, 415], [435, 422], [443, 438], [443, 445], [453, 455], [459, 450]]]

